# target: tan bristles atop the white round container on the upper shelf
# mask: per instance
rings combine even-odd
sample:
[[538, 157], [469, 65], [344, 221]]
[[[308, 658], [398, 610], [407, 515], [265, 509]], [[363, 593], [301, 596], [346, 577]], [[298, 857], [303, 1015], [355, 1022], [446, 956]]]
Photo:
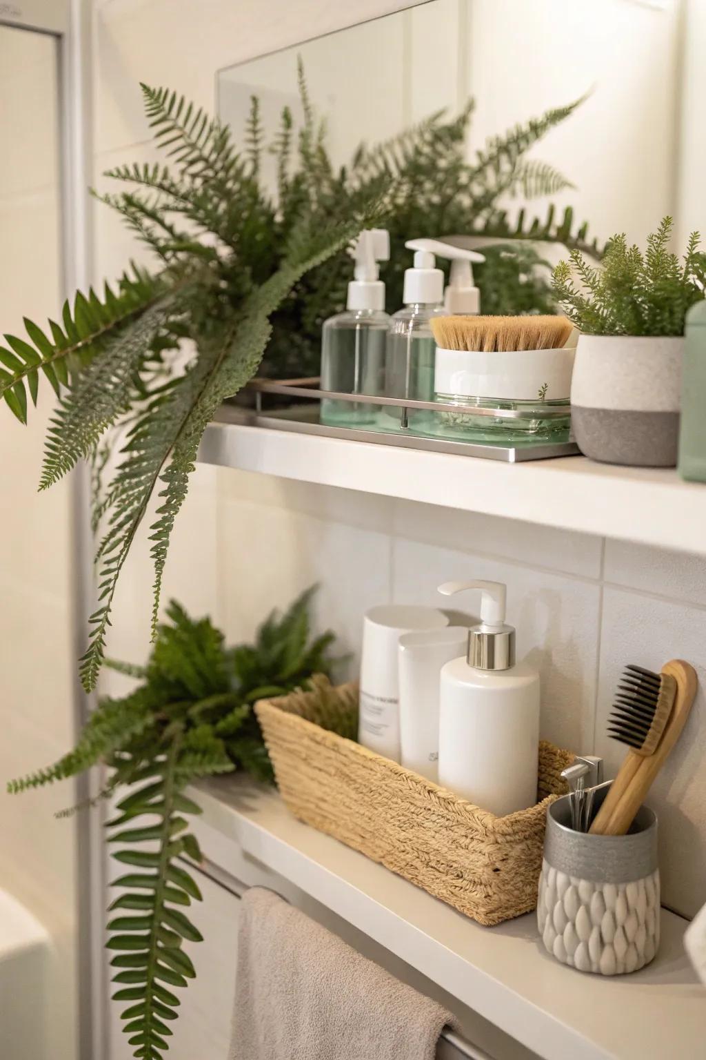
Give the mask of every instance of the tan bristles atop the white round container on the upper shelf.
[[556, 350], [565, 346], [573, 324], [566, 317], [432, 317], [441, 350]]

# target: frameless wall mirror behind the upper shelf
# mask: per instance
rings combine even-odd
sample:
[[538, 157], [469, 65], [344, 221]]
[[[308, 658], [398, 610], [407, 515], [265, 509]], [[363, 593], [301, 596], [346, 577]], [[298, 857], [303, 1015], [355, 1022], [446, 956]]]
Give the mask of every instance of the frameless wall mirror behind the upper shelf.
[[[699, 226], [698, 187], [687, 178], [700, 149], [688, 121], [703, 76], [690, 54], [706, 34], [699, 6], [431, 0], [220, 71], [219, 113], [242, 142], [256, 95], [264, 142], [274, 144], [288, 108], [295, 164], [301, 63], [321, 146], [338, 169], [355, 166], [360, 144], [434, 113], [451, 123], [468, 108], [466, 166], [450, 155], [426, 158], [419, 194], [391, 231], [388, 300], [399, 298], [409, 264], [404, 238], [454, 235], [487, 254], [476, 270], [484, 312], [543, 312], [548, 265], [567, 247], [602, 247], [614, 232], [644, 242], [667, 214], [683, 246]], [[276, 155], [266, 147], [260, 165], [274, 190]]]

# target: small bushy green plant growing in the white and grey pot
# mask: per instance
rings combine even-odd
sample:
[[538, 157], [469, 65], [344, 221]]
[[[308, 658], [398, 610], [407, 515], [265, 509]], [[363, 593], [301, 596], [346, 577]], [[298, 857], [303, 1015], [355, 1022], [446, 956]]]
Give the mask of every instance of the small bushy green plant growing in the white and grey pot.
[[671, 217], [647, 237], [645, 253], [624, 233], [608, 243], [600, 266], [574, 250], [554, 271], [554, 288], [566, 316], [589, 335], [683, 335], [684, 318], [704, 298], [706, 254], [699, 232], [682, 261], [669, 250]]

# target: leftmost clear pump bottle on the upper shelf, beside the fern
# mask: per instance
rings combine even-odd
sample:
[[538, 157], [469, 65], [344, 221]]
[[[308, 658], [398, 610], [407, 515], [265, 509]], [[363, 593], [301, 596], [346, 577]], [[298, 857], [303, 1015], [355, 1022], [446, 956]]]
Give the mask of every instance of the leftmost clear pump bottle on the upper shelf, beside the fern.
[[[390, 317], [384, 312], [385, 285], [378, 262], [390, 258], [390, 235], [382, 228], [365, 229], [354, 249], [355, 279], [348, 284], [345, 313], [324, 323], [321, 389], [339, 393], [381, 395], [385, 392], [385, 342]], [[374, 424], [375, 405], [324, 399], [321, 422], [329, 426]]]

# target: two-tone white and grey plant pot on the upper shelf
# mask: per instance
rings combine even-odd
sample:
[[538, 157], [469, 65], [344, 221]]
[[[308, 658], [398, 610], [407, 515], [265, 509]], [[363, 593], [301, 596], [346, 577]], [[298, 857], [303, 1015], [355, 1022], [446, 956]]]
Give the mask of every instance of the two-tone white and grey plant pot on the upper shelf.
[[581, 335], [572, 378], [576, 442], [592, 460], [676, 464], [683, 337]]

